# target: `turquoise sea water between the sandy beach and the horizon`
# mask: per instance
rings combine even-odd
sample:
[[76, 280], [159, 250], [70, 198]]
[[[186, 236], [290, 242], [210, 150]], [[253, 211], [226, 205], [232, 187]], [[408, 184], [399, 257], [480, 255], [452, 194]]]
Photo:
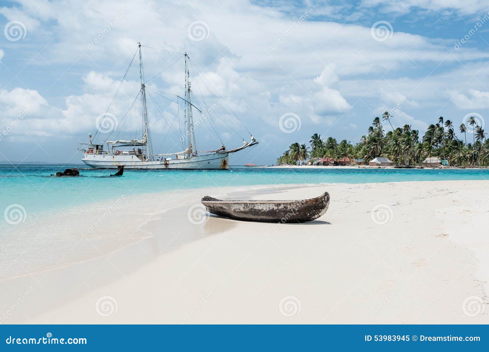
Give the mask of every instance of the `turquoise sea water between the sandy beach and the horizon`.
[[[224, 170], [81, 170], [82, 177], [50, 177], [64, 165], [0, 166], [0, 213], [21, 204], [29, 213], [51, 211], [141, 193], [298, 183], [370, 183], [396, 181], [489, 180], [489, 169], [279, 169], [232, 167]], [[0, 216], [0, 221], [3, 217]]]

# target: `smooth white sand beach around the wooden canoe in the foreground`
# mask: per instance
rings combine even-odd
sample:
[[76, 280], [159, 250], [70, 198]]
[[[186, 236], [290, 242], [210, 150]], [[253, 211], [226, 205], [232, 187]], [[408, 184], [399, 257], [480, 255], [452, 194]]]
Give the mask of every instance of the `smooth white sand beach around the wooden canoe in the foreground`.
[[[205, 195], [325, 191], [328, 212], [304, 224], [188, 218]], [[2, 324], [489, 323], [486, 181], [152, 194], [88, 232], [101, 211], [25, 225], [34, 244], [1, 277]]]

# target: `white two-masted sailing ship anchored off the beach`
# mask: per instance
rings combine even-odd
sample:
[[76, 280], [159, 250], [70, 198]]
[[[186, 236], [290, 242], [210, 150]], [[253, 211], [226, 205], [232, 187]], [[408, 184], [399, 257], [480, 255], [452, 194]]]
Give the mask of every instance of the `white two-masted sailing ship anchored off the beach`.
[[[186, 52], [185, 53], [174, 52], [176, 54], [183, 55], [184, 62], [185, 62], [185, 92], [183, 97], [177, 95], [177, 104], [182, 105], [184, 107], [186, 131], [185, 131], [185, 135], [183, 136], [180, 135], [179, 139], [180, 141], [182, 141], [182, 143], [186, 142], [186, 144], [183, 144], [183, 146], [186, 146], [186, 149], [176, 153], [153, 154], [153, 145], [151, 141], [150, 123], [148, 120], [148, 107], [146, 103], [146, 94], [148, 93], [148, 89], [154, 92], [161, 92], [161, 93], [165, 93], [165, 92], [156, 91], [156, 89], [149, 88], [146, 86], [147, 81], [145, 81], [144, 79], [141, 46], [144, 45], [138, 43], [138, 50], [136, 51], [136, 53], [139, 52], [139, 81], [140, 81], [140, 89], [136, 96], [136, 99], [137, 97], [140, 97], [140, 103], [141, 103], [140, 118], [142, 119], [142, 128], [140, 129], [140, 133], [142, 135], [139, 134], [138, 136], [139, 138], [136, 137], [134, 139], [129, 139], [129, 140], [116, 138], [115, 140], [105, 139], [102, 143], [95, 143], [92, 142], [92, 135], [90, 133], [89, 142], [82, 143], [78, 147], [78, 150], [81, 151], [83, 154], [82, 161], [85, 164], [93, 168], [102, 168], [102, 169], [117, 169], [120, 166], [124, 166], [126, 170], [127, 169], [164, 169], [164, 170], [223, 169], [223, 170], [227, 170], [229, 168], [229, 154], [242, 151], [246, 148], [253, 147], [258, 144], [258, 141], [255, 138], [253, 138], [253, 136], [250, 133], [250, 138], [251, 138], [250, 141], [247, 142], [243, 139], [243, 145], [234, 149], [227, 150], [224, 146], [224, 143], [222, 143], [221, 148], [217, 150], [206, 151], [206, 152], [199, 152], [197, 150], [197, 144], [195, 138], [196, 126], [194, 126], [193, 114], [195, 113], [195, 111], [198, 111], [200, 113], [200, 116], [202, 117], [203, 114], [210, 115], [211, 110], [207, 110], [204, 113], [202, 113], [203, 110], [202, 107], [200, 106], [201, 109], [199, 109], [199, 107], [196, 106], [196, 104], [198, 103], [195, 102], [193, 103], [192, 97], [195, 95], [192, 93], [191, 90], [190, 69], [189, 69], [190, 58]], [[159, 50], [168, 51], [165, 49], [159, 49]], [[133, 60], [136, 53], [134, 53]], [[133, 63], [133, 60], [131, 61], [131, 64]], [[126, 71], [126, 75], [127, 72], [129, 71], [129, 68], [131, 67], [131, 64], [129, 65]], [[100, 120], [100, 124], [103, 123], [104, 119], [107, 116], [111, 116], [110, 113], [111, 106], [115, 101], [115, 98], [117, 97], [119, 89], [122, 85], [122, 82], [126, 78], [126, 75], [124, 75], [121, 84], [119, 85], [119, 88], [117, 89], [114, 98], [112, 99], [111, 105], [107, 109], [103, 118]], [[150, 97], [152, 97], [151, 94]], [[152, 100], [155, 104], [157, 104], [153, 98]], [[203, 97], [202, 97], [202, 101], [203, 101]], [[180, 104], [181, 102], [182, 104]], [[161, 113], [161, 109], [158, 109], [158, 111]], [[126, 113], [126, 115], [128, 113]], [[234, 114], [234, 116], [239, 121], [239, 118], [236, 116], [236, 114]], [[239, 122], [241, 123], [241, 121]], [[172, 126], [170, 125], [169, 128], [171, 129]], [[215, 130], [215, 126], [214, 126], [214, 130]], [[111, 134], [114, 131], [111, 131]], [[100, 129], [97, 129], [97, 133], [95, 134], [94, 139], [98, 135], [98, 132], [100, 132]], [[107, 144], [107, 149], [104, 149], [104, 144]], [[169, 157], [169, 156], [174, 156], [174, 157]]]

